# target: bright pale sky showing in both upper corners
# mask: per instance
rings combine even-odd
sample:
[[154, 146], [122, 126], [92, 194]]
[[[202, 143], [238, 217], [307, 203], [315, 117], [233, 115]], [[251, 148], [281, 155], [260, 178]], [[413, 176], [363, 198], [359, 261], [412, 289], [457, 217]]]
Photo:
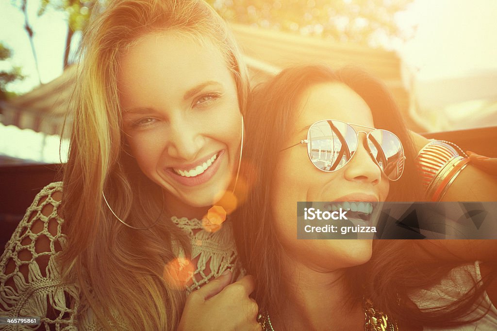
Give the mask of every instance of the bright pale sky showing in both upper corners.
[[[67, 24], [65, 14], [54, 10], [37, 17], [38, 3], [28, 0], [28, 11], [35, 31], [40, 79], [46, 83], [62, 73]], [[27, 92], [38, 84], [38, 76], [23, 29], [24, 16], [12, 1], [0, 0], [0, 17], [0, 41], [13, 50], [11, 63], [21, 66], [28, 76], [11, 88]], [[496, 17], [496, 0], [414, 0], [396, 17], [401, 26], [417, 26], [414, 38], [392, 47], [417, 80], [497, 73]], [[0, 69], [8, 66], [0, 62]]]

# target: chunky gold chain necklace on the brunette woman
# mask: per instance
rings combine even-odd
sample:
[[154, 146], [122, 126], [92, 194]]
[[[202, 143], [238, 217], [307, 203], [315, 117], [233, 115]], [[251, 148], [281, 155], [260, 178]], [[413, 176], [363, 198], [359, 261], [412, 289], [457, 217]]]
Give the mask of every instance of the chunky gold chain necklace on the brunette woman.
[[[363, 298], [362, 308], [365, 316], [364, 331], [399, 331], [397, 321], [386, 313], [376, 310], [371, 299]], [[274, 331], [268, 312], [259, 314], [257, 322], [262, 327], [262, 331]]]

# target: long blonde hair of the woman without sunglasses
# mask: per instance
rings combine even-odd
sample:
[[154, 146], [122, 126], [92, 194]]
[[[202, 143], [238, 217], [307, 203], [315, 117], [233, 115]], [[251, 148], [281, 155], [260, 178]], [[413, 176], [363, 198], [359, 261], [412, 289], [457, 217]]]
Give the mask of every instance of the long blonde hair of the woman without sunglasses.
[[136, 227], [161, 214], [161, 188], [126, 153], [116, 76], [120, 56], [134, 41], [168, 29], [219, 48], [234, 75], [242, 113], [249, 95], [247, 69], [233, 36], [201, 0], [111, 1], [89, 24], [72, 100], [62, 198], [67, 245], [59, 261], [63, 280], [81, 290], [83, 312], [91, 308], [106, 329], [174, 330], [184, 305], [184, 289], [168, 284], [163, 269], [175, 258], [173, 246], [189, 252], [186, 235], [166, 215], [149, 230], [129, 229], [102, 199], [103, 191], [116, 214]]

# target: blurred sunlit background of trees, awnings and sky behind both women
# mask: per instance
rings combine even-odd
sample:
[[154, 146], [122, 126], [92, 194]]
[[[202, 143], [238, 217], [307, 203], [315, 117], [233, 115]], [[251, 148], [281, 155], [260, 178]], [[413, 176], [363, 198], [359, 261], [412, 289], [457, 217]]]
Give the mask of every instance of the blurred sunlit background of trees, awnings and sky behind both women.
[[[78, 48], [106, 2], [0, 1], [0, 166], [66, 160]], [[232, 25], [254, 84], [291, 64], [361, 66], [416, 132], [497, 126], [495, 0], [208, 2]]]

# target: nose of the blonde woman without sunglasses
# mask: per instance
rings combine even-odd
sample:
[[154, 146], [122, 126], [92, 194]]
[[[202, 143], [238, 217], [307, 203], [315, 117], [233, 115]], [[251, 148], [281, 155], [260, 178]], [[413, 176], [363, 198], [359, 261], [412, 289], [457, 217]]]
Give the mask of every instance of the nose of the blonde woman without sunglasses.
[[204, 143], [201, 132], [194, 123], [188, 123], [180, 118], [171, 121], [167, 137], [167, 154], [185, 161], [194, 160]]

